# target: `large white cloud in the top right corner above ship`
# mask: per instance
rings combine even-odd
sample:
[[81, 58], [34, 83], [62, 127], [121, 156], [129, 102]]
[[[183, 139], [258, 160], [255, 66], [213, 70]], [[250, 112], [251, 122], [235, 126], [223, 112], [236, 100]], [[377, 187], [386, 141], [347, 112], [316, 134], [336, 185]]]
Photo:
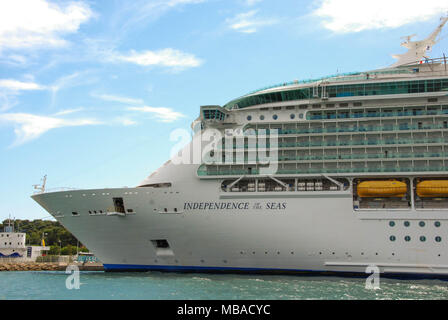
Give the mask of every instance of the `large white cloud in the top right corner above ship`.
[[446, 0], [322, 0], [313, 15], [323, 19], [325, 28], [337, 33], [397, 28], [442, 16]]

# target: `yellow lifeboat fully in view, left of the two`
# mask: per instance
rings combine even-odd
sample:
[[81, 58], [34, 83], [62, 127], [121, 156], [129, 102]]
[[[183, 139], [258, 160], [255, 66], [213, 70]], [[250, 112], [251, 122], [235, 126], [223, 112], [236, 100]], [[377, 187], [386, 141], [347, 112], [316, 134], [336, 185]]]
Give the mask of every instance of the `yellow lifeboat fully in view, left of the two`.
[[358, 184], [360, 197], [396, 197], [402, 198], [408, 192], [406, 183], [396, 180], [363, 181]]

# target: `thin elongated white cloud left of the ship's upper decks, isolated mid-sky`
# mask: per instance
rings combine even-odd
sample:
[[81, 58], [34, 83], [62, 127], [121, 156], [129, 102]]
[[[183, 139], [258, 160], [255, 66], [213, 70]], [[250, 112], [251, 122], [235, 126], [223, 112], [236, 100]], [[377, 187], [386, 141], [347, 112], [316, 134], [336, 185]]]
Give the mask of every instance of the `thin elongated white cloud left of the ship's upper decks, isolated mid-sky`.
[[140, 66], [160, 66], [174, 69], [199, 67], [202, 60], [194, 55], [175, 49], [162, 49], [158, 51], [131, 51], [129, 55], [114, 55], [112, 60], [138, 64]]

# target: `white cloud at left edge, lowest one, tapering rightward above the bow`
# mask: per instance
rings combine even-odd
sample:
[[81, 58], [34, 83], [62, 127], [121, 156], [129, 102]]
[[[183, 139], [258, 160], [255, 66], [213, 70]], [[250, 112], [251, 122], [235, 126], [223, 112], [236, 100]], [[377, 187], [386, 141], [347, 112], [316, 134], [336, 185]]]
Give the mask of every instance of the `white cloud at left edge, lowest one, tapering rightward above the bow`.
[[13, 145], [16, 146], [37, 139], [52, 129], [101, 124], [101, 122], [94, 119], [61, 119], [28, 113], [0, 114], [1, 122], [11, 123], [15, 126], [16, 141]]

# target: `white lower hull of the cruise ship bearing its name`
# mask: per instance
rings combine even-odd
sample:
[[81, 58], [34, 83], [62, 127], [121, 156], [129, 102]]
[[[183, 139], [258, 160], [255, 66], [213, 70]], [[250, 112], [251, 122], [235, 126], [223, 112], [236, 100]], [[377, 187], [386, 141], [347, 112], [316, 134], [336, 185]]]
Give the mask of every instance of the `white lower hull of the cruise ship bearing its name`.
[[[164, 169], [186, 172], [178, 166]], [[365, 274], [367, 266], [375, 265], [385, 275], [448, 275], [446, 241], [434, 241], [446, 233], [441, 232], [448, 225], [446, 210], [359, 212], [353, 209], [351, 190], [229, 195], [216, 181], [198, 181], [189, 177], [173, 188], [78, 190], [33, 198], [108, 271]], [[123, 197], [133, 212], [107, 214], [114, 197]], [[195, 203], [198, 209], [185, 209]], [[205, 203], [214, 207], [204, 209]], [[97, 214], [89, 215], [92, 210]], [[395, 219], [400, 222], [391, 227]], [[436, 219], [441, 227], [434, 225]], [[392, 242], [391, 235], [397, 240]], [[411, 242], [404, 241], [406, 235]], [[418, 240], [422, 235], [427, 241]], [[168, 250], [154, 246], [152, 241], [160, 239], [167, 240]]]

